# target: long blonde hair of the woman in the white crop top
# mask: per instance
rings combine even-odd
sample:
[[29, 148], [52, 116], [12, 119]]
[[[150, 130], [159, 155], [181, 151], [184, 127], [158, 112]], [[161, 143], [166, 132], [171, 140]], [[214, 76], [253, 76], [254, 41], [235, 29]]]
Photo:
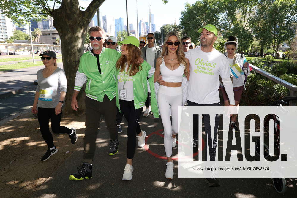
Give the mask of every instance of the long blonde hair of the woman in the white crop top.
[[184, 52], [182, 50], [183, 46], [181, 44], [181, 38], [175, 32], [168, 32], [167, 33], [167, 35], [165, 37], [163, 47], [162, 47], [162, 56], [168, 55], [168, 49], [167, 49], [167, 46], [166, 46], [166, 44], [167, 44], [166, 42], [168, 41], [170, 36], [176, 36], [176, 38], [177, 38], [177, 40], [179, 42], [178, 48], [176, 50], [177, 62], [178, 62], [178, 64], [183, 64], [184, 65], [184, 74], [187, 76], [189, 71], [187, 70], [186, 57], [185, 57], [185, 54], [184, 54]]

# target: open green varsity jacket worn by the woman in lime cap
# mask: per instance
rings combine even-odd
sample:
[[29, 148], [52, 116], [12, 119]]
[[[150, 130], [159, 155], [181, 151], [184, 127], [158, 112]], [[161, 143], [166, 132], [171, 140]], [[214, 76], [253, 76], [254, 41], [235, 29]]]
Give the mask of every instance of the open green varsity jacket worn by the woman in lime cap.
[[[133, 78], [133, 94], [134, 94], [134, 108], [139, 109], [145, 106], [145, 102], [147, 99], [147, 78], [149, 77], [149, 85], [151, 87], [151, 111], [154, 114], [155, 118], [159, 118], [159, 110], [157, 105], [157, 99], [155, 94], [155, 86], [154, 86], [154, 73], [155, 69], [151, 67], [146, 61], [143, 61], [140, 64], [139, 72], [137, 72]], [[119, 70], [116, 71], [116, 105], [120, 110], [119, 104], [119, 84], [117, 75], [119, 74]]]

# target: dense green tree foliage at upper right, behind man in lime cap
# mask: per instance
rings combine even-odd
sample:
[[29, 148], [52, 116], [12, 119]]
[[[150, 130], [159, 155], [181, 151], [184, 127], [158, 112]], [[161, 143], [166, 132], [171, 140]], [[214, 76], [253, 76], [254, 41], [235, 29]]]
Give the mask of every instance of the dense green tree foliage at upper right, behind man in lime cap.
[[202, 0], [185, 4], [180, 23], [195, 43], [200, 39], [198, 29], [213, 24], [224, 38], [236, 36], [240, 51], [251, 50], [257, 39], [262, 53], [268, 45], [277, 52], [294, 36], [296, 6], [294, 0]]

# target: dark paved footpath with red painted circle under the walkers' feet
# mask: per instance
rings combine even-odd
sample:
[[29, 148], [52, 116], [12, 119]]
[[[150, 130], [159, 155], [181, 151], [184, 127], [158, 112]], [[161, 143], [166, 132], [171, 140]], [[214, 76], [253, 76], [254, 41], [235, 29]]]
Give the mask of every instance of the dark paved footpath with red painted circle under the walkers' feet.
[[[155, 157], [165, 156], [162, 124], [152, 115], [140, 120], [140, 127], [147, 132], [145, 148], [136, 148], [133, 160], [133, 179], [122, 181], [126, 162], [127, 125], [119, 134], [119, 153], [108, 155], [108, 131], [101, 126], [97, 136], [97, 148], [93, 165], [93, 178], [70, 181], [69, 175], [81, 165], [83, 147], [74, 152], [54, 172], [32, 197], [278, 197], [271, 178], [218, 178], [220, 187], [208, 187], [204, 178], [178, 178], [178, 162], [175, 161], [174, 178], [165, 178], [166, 161]], [[159, 135], [154, 133], [159, 131]], [[83, 141], [80, 138], [78, 141]], [[155, 153], [154, 155], [152, 155]], [[173, 149], [177, 156], [178, 148]], [[52, 156], [55, 157], [55, 156]], [[44, 163], [50, 163], [50, 159]], [[289, 180], [287, 180], [289, 182]], [[290, 184], [289, 184], [290, 185]], [[286, 197], [296, 196], [296, 181], [287, 189]]]

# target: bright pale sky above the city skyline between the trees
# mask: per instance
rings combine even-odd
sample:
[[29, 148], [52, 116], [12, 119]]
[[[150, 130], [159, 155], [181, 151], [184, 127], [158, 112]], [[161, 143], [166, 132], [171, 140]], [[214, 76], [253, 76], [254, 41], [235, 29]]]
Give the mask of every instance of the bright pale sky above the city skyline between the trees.
[[[86, 8], [91, 0], [80, 0], [80, 6]], [[159, 31], [163, 24], [174, 23], [179, 24], [181, 12], [185, 10], [185, 3], [194, 4], [196, 0], [168, 0], [167, 4], [163, 4], [161, 0], [151, 0], [151, 14], [154, 14], [154, 23], [156, 31]], [[127, 0], [128, 3], [128, 20], [136, 29], [136, 0]], [[127, 24], [126, 17], [126, 1], [125, 0], [106, 0], [100, 7], [101, 20], [104, 15], [111, 15], [115, 19], [123, 18]], [[138, 0], [138, 21], [144, 19], [148, 22], [149, 18], [149, 0]], [[97, 25], [97, 24], [95, 24]]]

